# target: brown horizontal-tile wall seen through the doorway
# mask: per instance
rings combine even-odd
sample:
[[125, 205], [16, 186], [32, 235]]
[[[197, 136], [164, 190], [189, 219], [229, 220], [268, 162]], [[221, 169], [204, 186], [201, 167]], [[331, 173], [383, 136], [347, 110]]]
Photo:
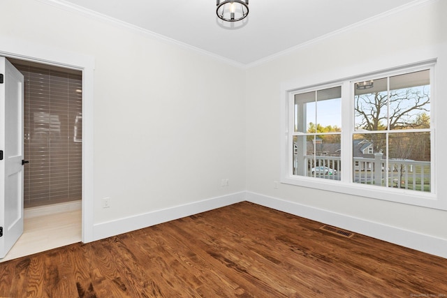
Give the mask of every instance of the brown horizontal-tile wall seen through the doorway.
[[24, 207], [82, 198], [82, 75], [15, 65], [24, 75]]

